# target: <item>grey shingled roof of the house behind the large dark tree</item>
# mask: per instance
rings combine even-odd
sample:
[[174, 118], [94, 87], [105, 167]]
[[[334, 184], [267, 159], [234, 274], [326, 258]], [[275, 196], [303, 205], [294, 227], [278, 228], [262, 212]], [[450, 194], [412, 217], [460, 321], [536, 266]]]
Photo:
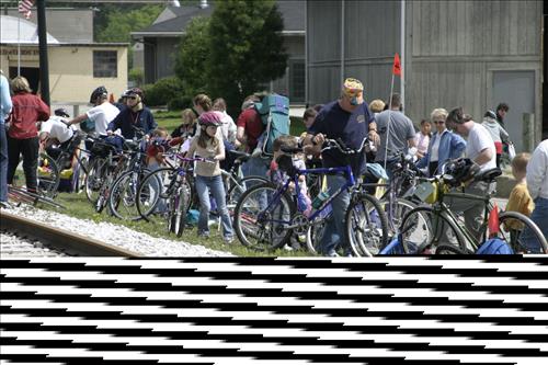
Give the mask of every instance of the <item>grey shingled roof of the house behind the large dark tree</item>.
[[[305, 7], [304, 0], [278, 0], [277, 5], [282, 18], [284, 19], [283, 33], [302, 33], [305, 34]], [[184, 28], [195, 16], [210, 16], [215, 4], [210, 3], [207, 8], [197, 5], [182, 5], [181, 8], [170, 8], [176, 15], [163, 22], [155, 23], [147, 28], [138, 32], [132, 32], [132, 35], [164, 35], [179, 36], [184, 33]]]

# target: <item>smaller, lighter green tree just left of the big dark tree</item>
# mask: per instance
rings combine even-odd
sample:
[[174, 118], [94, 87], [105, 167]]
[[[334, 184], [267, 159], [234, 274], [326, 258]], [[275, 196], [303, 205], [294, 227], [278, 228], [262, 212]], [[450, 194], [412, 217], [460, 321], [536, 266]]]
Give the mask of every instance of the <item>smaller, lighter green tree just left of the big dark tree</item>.
[[175, 75], [181, 79], [186, 96], [208, 91], [207, 58], [210, 52], [208, 30], [208, 18], [194, 18], [186, 26], [179, 44]]

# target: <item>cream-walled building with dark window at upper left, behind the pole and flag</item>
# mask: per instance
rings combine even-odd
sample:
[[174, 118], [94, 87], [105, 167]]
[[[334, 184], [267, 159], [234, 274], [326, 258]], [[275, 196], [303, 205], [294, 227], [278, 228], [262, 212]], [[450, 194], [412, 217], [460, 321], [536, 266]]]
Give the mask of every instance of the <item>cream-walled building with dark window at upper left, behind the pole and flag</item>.
[[[16, 9], [0, 15], [0, 67], [7, 76], [21, 75], [34, 91], [39, 90], [39, 53], [36, 12], [25, 20]], [[93, 12], [90, 9], [47, 9], [49, 93], [53, 105], [84, 105], [91, 91], [105, 85], [114, 94], [127, 88], [128, 44], [93, 42]], [[19, 35], [18, 35], [19, 27]], [[21, 57], [18, 57], [18, 44]]]

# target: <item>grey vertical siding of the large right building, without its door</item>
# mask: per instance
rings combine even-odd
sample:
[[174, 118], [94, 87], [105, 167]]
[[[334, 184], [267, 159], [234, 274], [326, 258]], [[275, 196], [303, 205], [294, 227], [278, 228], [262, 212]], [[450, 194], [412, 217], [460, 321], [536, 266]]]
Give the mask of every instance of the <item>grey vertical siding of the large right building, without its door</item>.
[[[364, 81], [367, 101], [388, 98], [391, 57], [399, 50], [399, 22], [392, 22], [395, 16], [390, 14], [395, 12], [398, 16], [399, 3], [345, 2], [345, 73]], [[487, 100], [491, 88], [487, 84], [488, 73], [492, 67], [521, 69], [524, 62], [541, 67], [543, 2], [539, 0], [406, 3], [411, 32], [406, 50], [406, 112], [414, 122], [430, 116], [435, 107], [450, 111], [460, 105], [480, 119], [487, 109], [493, 107]], [[309, 23], [318, 25], [327, 16], [338, 16], [339, 9], [322, 14], [323, 1], [311, 1], [308, 7]], [[319, 18], [315, 20], [316, 16]], [[338, 39], [340, 24], [328, 25], [321, 25], [320, 35], [332, 32]], [[326, 102], [339, 92], [338, 55], [332, 55], [332, 62], [317, 57], [317, 49], [326, 48], [327, 43], [310, 31], [309, 99]], [[340, 46], [335, 43], [331, 48], [336, 53]], [[540, 94], [537, 89], [535, 92]], [[400, 90], [399, 84], [395, 90]], [[537, 98], [537, 104], [540, 102]], [[540, 115], [536, 117], [539, 119]]]

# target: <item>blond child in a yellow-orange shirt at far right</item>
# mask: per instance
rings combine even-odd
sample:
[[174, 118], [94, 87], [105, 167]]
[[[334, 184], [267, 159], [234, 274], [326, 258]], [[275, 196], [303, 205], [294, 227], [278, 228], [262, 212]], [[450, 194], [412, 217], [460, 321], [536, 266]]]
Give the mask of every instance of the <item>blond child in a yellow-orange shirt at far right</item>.
[[[517, 181], [517, 184], [510, 193], [509, 203], [506, 204], [507, 212], [518, 212], [527, 217], [530, 216], [530, 213], [535, 207], [525, 180], [529, 159], [529, 153], [520, 153], [512, 160], [512, 174]], [[516, 230], [523, 229], [518, 221], [511, 221], [506, 228]]]

